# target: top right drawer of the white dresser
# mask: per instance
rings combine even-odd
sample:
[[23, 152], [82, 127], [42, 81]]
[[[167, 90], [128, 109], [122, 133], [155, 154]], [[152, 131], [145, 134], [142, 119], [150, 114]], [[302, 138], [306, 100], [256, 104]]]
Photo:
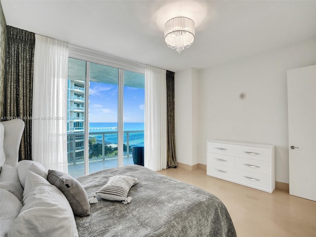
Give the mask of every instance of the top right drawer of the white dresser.
[[250, 158], [256, 160], [270, 161], [271, 150], [262, 147], [238, 146], [236, 157]]

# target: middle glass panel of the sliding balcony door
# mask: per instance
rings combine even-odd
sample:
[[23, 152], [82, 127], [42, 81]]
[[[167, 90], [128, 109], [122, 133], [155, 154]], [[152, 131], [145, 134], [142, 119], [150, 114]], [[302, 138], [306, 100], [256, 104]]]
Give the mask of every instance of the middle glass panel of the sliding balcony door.
[[89, 173], [118, 166], [118, 69], [90, 63]]

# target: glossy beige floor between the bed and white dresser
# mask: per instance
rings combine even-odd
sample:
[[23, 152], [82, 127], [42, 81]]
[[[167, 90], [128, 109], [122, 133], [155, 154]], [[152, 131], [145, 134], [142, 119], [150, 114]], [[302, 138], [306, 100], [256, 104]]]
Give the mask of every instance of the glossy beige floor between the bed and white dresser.
[[238, 237], [316, 237], [316, 202], [272, 194], [206, 175], [203, 169], [158, 171], [219, 197], [226, 205]]

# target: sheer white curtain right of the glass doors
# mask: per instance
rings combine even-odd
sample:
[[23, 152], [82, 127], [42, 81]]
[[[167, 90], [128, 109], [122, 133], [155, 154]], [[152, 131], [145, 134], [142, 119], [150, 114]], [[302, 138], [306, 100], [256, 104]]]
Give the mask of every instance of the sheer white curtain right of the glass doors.
[[167, 166], [166, 70], [145, 69], [144, 166], [154, 171]]

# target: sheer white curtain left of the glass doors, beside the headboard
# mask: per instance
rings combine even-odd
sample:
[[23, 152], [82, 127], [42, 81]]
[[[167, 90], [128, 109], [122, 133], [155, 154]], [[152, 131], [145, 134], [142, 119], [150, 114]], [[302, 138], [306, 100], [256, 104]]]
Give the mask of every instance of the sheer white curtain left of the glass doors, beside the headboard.
[[35, 39], [32, 157], [46, 169], [68, 172], [68, 43]]

